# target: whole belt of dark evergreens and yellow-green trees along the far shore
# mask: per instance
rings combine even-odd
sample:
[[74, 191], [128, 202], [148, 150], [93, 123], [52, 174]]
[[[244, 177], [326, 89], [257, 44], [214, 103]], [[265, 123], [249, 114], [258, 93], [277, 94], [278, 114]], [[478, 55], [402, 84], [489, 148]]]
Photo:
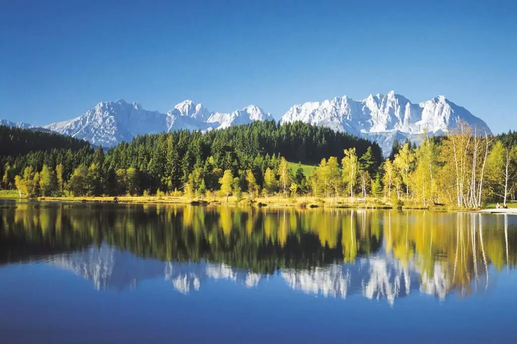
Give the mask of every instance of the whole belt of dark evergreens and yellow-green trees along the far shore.
[[[5, 142], [10, 134], [0, 133]], [[237, 200], [274, 195], [295, 202], [310, 195], [332, 203], [369, 198], [454, 208], [506, 204], [517, 191], [517, 133], [484, 135], [462, 122], [444, 136], [423, 134], [418, 146], [396, 141], [387, 158], [366, 139], [274, 121], [143, 135], [107, 152], [71, 138], [44, 147], [18, 155], [27, 148], [13, 147], [2, 155], [2, 187], [20, 197], [183, 195], [227, 201], [230, 195]], [[317, 167], [305, 175], [288, 162]]]

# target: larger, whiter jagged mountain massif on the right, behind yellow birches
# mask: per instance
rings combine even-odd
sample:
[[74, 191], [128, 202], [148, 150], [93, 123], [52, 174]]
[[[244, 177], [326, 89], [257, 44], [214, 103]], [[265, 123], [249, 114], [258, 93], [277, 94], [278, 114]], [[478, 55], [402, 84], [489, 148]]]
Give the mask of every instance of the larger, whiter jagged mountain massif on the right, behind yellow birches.
[[366, 137], [379, 143], [388, 154], [395, 138], [407, 137], [417, 142], [424, 131], [431, 135], [443, 134], [454, 129], [459, 120], [478, 132], [491, 133], [484, 121], [444, 96], [413, 104], [394, 91], [387, 95], [370, 95], [363, 100], [344, 96], [295, 105], [282, 116], [281, 122], [302, 121]]

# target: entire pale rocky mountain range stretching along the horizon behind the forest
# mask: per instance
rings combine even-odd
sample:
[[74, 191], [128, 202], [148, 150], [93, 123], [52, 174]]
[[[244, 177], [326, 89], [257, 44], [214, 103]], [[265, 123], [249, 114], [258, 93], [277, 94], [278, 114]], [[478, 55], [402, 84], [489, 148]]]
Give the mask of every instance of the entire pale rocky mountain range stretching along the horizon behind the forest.
[[[140, 103], [127, 103], [119, 99], [100, 102], [82, 116], [42, 128], [85, 139], [94, 145], [112, 147], [140, 134], [179, 129], [208, 131], [256, 120], [273, 120], [273, 117], [255, 105], [231, 113], [219, 113], [209, 112], [202, 104], [186, 100], [163, 114], [144, 110]], [[280, 122], [302, 121], [366, 137], [377, 142], [384, 154], [389, 154], [395, 139], [408, 138], [418, 143], [424, 132], [440, 135], [457, 127], [460, 120], [478, 132], [491, 134], [483, 120], [444, 96], [415, 104], [394, 91], [386, 95], [370, 95], [363, 100], [344, 96], [294, 105], [281, 117]], [[0, 120], [0, 124], [39, 128], [6, 120]]]

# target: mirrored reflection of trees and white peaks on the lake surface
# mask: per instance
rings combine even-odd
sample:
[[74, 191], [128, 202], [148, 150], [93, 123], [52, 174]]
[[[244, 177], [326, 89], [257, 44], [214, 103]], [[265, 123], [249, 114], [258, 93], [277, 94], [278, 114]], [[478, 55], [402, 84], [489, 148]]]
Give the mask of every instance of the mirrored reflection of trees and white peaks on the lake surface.
[[417, 288], [444, 298], [453, 291], [464, 296], [484, 289], [491, 273], [517, 264], [517, 220], [508, 215], [44, 202], [0, 205], [1, 264], [43, 259], [70, 267], [73, 263], [64, 261], [67, 254], [73, 257], [115, 247], [131, 253], [133, 259], [152, 258], [153, 264], [159, 263], [152, 269], [148, 263], [144, 268], [148, 274], [153, 269], [163, 273], [165, 266], [165, 275], [183, 291], [189, 286], [199, 289], [203, 274], [221, 276], [224, 269], [237, 269], [227, 275], [236, 279], [242, 274], [247, 286], [256, 285], [261, 276], [278, 273], [292, 288], [308, 293], [344, 298], [357, 291], [392, 302]]

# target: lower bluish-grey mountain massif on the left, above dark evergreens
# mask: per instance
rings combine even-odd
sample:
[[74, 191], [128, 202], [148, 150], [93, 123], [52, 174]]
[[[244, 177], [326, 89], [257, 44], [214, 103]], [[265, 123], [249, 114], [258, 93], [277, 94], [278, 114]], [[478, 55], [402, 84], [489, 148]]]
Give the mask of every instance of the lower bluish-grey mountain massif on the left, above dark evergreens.
[[95, 145], [111, 147], [141, 134], [179, 129], [207, 131], [267, 119], [272, 119], [271, 114], [254, 105], [232, 113], [218, 113], [209, 112], [202, 104], [186, 100], [162, 114], [144, 110], [140, 103], [127, 103], [119, 99], [100, 102], [80, 117], [51, 123], [44, 128], [85, 139]]

